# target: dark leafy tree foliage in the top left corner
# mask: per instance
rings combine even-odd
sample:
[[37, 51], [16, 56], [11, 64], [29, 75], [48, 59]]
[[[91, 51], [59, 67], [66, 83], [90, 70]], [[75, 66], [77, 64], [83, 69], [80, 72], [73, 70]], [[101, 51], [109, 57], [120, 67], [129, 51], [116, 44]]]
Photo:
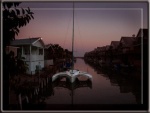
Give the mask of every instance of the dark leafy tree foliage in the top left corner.
[[20, 2], [3, 2], [3, 46], [6, 47], [10, 41], [18, 35], [19, 28], [27, 25], [34, 19], [30, 8], [17, 8]]

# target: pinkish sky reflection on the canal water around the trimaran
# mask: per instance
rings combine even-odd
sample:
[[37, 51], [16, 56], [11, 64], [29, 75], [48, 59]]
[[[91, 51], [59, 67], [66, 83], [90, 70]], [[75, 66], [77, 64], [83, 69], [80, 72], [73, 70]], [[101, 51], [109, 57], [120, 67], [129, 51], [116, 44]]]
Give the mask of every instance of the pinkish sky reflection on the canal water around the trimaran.
[[[85, 64], [82, 59], [77, 59], [75, 68], [81, 71], [86, 71], [93, 76], [92, 88], [81, 87], [73, 90], [73, 98], [71, 90], [63, 87], [55, 87], [54, 95], [50, 96], [47, 100], [47, 104], [136, 104], [136, 98], [130, 89], [129, 84], [125, 86], [118, 86], [111, 83], [107, 77], [97, 74], [97, 72], [89, 65]], [[121, 87], [124, 88], [121, 92]], [[127, 89], [125, 89], [127, 88]]]

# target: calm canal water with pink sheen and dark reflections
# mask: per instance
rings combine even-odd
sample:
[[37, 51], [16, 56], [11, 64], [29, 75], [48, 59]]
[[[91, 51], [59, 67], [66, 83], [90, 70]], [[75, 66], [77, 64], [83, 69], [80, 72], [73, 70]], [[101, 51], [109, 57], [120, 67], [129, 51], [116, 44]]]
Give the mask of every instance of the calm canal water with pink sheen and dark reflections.
[[77, 58], [74, 69], [91, 74], [92, 82], [81, 76], [75, 84], [67, 83], [65, 78], [50, 84], [43, 109], [101, 109], [107, 105], [141, 103], [140, 83], [132, 75], [96, 69], [80, 58]]

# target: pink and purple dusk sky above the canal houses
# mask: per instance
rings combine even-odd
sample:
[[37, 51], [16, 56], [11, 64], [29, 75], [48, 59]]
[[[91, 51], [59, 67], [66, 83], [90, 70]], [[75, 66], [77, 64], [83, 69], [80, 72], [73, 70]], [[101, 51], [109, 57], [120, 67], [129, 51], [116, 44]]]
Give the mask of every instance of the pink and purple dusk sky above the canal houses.
[[[20, 29], [17, 39], [41, 37], [45, 44], [59, 44], [71, 50], [72, 2], [23, 2], [30, 7], [34, 20]], [[148, 27], [146, 2], [75, 2], [75, 56], [96, 47], [119, 41]]]

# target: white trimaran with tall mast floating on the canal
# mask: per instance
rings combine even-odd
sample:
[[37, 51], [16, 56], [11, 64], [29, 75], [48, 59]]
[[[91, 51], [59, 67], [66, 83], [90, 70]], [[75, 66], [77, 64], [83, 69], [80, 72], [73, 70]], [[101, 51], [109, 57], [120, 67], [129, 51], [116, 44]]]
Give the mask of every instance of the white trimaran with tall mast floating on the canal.
[[59, 77], [68, 77], [70, 79], [70, 82], [75, 82], [76, 78], [78, 76], [85, 76], [88, 77], [88, 79], [92, 80], [92, 76], [84, 71], [79, 71], [74, 69], [74, 2], [73, 2], [73, 32], [72, 32], [72, 69], [56, 73], [52, 76], [52, 82], [55, 81]]

